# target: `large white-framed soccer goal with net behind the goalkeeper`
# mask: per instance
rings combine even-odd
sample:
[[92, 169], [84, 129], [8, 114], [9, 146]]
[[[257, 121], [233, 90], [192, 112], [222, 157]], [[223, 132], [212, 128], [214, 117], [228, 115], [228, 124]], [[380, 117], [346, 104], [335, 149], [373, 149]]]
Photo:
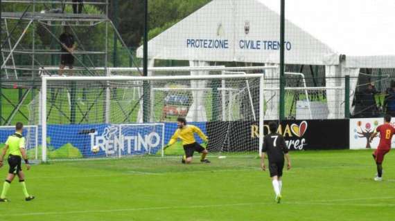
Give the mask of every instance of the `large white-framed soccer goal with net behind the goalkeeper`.
[[180, 142], [163, 151], [179, 116], [208, 135], [211, 153], [257, 155], [263, 142], [263, 86], [264, 75], [250, 73], [44, 76], [42, 160], [179, 154]]

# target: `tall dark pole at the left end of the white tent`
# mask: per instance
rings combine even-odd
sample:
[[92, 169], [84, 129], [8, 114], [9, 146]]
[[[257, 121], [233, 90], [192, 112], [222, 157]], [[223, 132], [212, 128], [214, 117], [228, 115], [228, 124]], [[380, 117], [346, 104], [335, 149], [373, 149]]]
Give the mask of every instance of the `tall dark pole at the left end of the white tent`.
[[[143, 76], [148, 77], [148, 0], [144, 1], [144, 44], [143, 44]], [[143, 122], [149, 122], [150, 88], [148, 81], [143, 81]]]

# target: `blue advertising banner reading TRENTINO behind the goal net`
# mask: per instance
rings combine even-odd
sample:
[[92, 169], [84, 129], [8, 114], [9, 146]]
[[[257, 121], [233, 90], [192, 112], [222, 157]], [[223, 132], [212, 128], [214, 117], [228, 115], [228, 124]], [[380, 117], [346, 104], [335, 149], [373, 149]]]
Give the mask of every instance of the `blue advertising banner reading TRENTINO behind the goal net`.
[[165, 124], [48, 125], [47, 154], [49, 158], [156, 154], [164, 145], [164, 132]]

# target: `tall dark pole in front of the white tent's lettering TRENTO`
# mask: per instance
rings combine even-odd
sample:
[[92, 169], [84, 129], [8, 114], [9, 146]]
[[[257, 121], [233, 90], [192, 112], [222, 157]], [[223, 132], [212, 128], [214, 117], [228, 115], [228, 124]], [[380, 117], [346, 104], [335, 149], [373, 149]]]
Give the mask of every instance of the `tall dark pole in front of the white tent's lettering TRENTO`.
[[286, 32], [286, 0], [281, 0], [281, 12], [280, 12], [280, 120], [286, 118], [286, 103], [285, 103], [285, 64], [284, 64], [284, 41]]

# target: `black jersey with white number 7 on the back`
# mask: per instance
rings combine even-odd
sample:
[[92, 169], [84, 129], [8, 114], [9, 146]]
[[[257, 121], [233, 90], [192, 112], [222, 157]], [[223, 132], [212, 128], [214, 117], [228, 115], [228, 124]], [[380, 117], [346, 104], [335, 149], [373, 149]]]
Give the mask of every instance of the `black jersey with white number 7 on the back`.
[[269, 162], [283, 162], [284, 153], [288, 153], [288, 147], [284, 137], [278, 133], [265, 135], [263, 138], [262, 152], [267, 153]]

